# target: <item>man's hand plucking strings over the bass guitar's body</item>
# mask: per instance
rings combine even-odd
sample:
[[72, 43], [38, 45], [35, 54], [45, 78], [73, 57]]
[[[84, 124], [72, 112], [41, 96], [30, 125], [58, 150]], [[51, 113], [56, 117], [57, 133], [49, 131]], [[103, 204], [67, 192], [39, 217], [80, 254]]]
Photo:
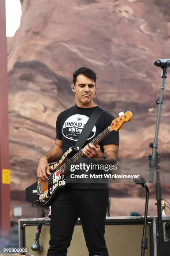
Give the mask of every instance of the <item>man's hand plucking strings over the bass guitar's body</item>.
[[37, 165], [37, 177], [40, 180], [47, 180], [47, 175], [50, 175], [50, 165], [47, 161], [47, 156], [41, 156]]

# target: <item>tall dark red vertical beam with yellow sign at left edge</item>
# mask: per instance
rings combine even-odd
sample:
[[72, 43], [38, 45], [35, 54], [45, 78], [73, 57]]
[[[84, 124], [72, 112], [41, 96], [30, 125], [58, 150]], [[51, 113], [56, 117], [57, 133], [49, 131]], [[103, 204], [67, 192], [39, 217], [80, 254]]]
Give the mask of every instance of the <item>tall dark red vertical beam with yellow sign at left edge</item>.
[[7, 38], [5, 0], [0, 0], [0, 236], [10, 230]]

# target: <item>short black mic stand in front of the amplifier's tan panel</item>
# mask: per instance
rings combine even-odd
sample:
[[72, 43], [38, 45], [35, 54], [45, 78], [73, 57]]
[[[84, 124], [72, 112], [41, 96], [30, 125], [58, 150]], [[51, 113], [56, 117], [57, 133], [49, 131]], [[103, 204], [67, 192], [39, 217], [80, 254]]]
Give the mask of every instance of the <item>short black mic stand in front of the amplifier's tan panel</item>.
[[145, 217], [144, 217], [144, 225], [143, 225], [143, 237], [142, 237], [142, 243], [141, 243], [141, 256], [145, 256], [145, 250], [148, 249], [148, 238], [146, 237], [146, 228], [147, 228], [147, 217], [148, 217], [148, 203], [149, 203], [149, 189], [146, 184], [146, 180], [143, 177], [140, 177], [140, 179], [134, 179], [134, 182], [136, 184], [141, 185], [142, 187], [145, 187], [146, 189], [146, 200], [145, 200]]

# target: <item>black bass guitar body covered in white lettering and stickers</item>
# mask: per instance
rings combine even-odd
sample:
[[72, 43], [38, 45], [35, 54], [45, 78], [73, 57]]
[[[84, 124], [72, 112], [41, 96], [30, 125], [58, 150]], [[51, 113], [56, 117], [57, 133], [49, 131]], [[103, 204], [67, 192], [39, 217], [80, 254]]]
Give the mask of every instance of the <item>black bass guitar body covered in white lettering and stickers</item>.
[[47, 207], [56, 199], [60, 190], [67, 185], [68, 179], [65, 179], [65, 174], [62, 174], [62, 166], [67, 163], [77, 153], [74, 147], [69, 148], [60, 158], [59, 161], [50, 164], [50, 172], [52, 173], [47, 181], [38, 179], [37, 182], [37, 197], [39, 204], [42, 207]]

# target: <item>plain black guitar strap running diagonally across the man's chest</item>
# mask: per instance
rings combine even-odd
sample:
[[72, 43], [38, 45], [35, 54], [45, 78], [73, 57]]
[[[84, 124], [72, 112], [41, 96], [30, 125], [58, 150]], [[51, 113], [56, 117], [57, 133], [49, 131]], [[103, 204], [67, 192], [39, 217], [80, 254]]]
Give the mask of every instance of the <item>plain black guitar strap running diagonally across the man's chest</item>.
[[89, 120], [87, 121], [85, 127], [83, 128], [80, 136], [77, 139], [75, 144], [75, 150], [79, 151], [84, 146], [85, 142], [87, 141], [88, 136], [90, 135], [92, 128], [95, 126], [95, 123], [100, 118], [100, 115], [103, 113], [103, 109], [97, 106], [95, 110], [90, 115]]

